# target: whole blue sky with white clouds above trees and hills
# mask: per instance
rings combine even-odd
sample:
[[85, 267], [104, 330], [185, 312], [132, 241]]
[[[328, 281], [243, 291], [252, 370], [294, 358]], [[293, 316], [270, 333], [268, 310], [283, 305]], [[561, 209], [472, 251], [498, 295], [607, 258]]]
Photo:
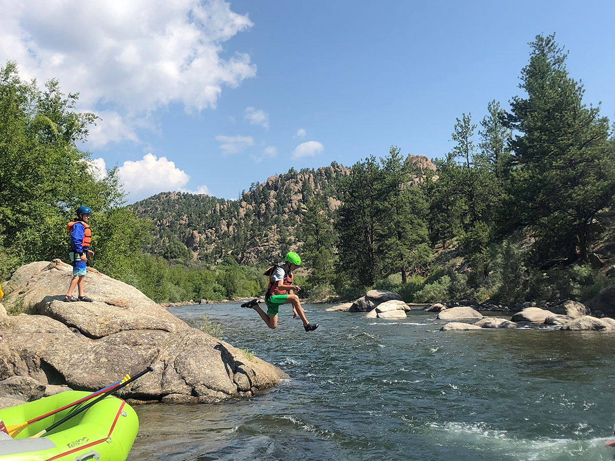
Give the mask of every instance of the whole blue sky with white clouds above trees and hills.
[[585, 102], [615, 119], [615, 2], [0, 0], [0, 59], [100, 114], [98, 167], [129, 202], [236, 199], [268, 176], [350, 166], [394, 144], [443, 157], [455, 117], [520, 94], [528, 42], [555, 32]]

